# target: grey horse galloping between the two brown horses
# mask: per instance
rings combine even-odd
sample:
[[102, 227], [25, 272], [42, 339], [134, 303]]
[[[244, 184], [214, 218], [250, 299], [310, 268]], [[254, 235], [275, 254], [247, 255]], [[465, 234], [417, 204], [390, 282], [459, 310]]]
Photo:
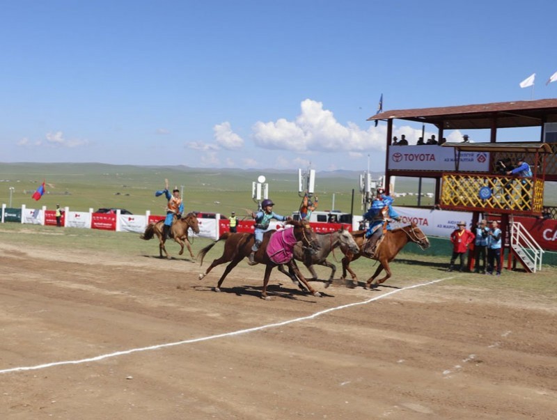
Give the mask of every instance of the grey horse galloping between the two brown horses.
[[[356, 241], [354, 241], [354, 238], [352, 238], [350, 231], [347, 231], [344, 226], [338, 231], [317, 233], [315, 238], [317, 240], [317, 244], [319, 244], [319, 250], [316, 251], [315, 254], [308, 256], [301, 242], [298, 242], [294, 247], [294, 258], [304, 263], [307, 269], [311, 272], [313, 278], [308, 280], [317, 280], [317, 273], [313, 268], [314, 265], [324, 265], [324, 267], [329, 267], [331, 269], [331, 275], [325, 285], [325, 287], [328, 287], [333, 282], [336, 265], [329, 263], [329, 261], [327, 261], [327, 256], [329, 256], [331, 251], [333, 251], [336, 247], [342, 246], [351, 251], [353, 254], [357, 254], [359, 252], [359, 247], [358, 244], [356, 244]], [[278, 270], [287, 274], [288, 277], [290, 277], [290, 279], [292, 279], [295, 283], [297, 282], [297, 280], [293, 277], [294, 273], [291, 270], [287, 273], [284, 271], [283, 266], [278, 267]]]

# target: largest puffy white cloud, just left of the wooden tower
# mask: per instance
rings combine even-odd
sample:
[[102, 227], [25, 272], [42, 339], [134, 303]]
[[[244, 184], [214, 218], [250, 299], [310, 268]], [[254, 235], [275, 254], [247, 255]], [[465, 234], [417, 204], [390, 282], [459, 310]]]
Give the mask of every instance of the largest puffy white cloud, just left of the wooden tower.
[[370, 127], [362, 130], [348, 122], [338, 123], [322, 102], [306, 99], [301, 102], [301, 114], [294, 121], [279, 118], [276, 122], [258, 121], [252, 127], [257, 146], [269, 149], [307, 152], [361, 152], [385, 150], [384, 129]]

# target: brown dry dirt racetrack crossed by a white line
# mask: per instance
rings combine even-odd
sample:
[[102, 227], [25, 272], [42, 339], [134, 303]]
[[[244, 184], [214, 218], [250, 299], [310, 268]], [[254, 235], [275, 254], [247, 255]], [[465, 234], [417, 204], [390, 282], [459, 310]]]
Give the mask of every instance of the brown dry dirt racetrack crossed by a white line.
[[154, 255], [0, 244], [0, 419], [557, 418], [551, 302]]

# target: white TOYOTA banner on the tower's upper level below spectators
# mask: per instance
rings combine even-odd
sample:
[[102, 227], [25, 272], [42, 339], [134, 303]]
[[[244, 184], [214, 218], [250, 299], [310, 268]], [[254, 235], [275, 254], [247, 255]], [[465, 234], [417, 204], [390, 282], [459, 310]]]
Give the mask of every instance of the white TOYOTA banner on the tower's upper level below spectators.
[[[391, 146], [389, 148], [389, 169], [408, 171], [453, 172], [455, 150], [442, 146]], [[489, 153], [461, 152], [459, 171], [489, 171]]]

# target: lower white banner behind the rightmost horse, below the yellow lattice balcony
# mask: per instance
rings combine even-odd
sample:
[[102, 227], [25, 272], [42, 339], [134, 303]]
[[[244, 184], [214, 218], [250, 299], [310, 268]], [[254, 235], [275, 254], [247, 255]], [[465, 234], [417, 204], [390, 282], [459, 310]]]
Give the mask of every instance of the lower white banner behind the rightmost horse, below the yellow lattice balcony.
[[414, 222], [427, 236], [449, 238], [450, 234], [457, 228], [459, 221], [466, 221], [466, 227], [468, 228], [471, 227], [472, 223], [472, 213], [467, 212], [397, 206], [393, 206], [393, 208], [400, 216], [400, 223], [392, 224], [393, 228], [406, 226]]

